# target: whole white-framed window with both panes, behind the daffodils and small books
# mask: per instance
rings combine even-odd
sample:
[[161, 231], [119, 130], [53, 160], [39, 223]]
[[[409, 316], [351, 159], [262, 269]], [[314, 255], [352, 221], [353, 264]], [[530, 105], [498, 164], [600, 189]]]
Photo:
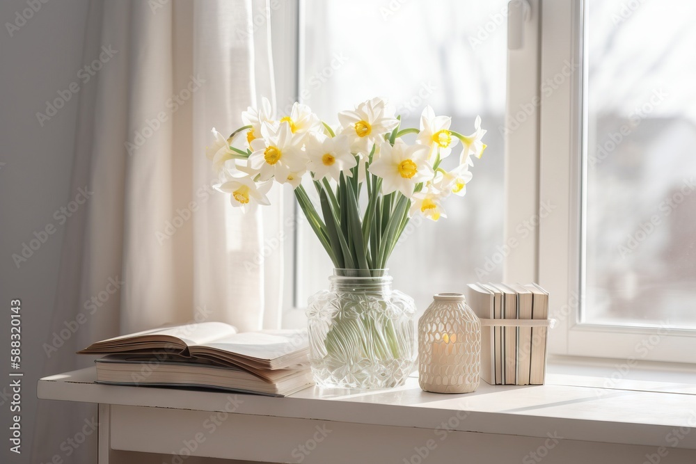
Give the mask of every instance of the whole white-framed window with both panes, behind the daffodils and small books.
[[[693, 362], [695, 6], [300, 5], [296, 95], [320, 115], [386, 95], [404, 125], [430, 104], [454, 127], [480, 114], [489, 130], [464, 201], [406, 232], [395, 287], [423, 310], [467, 282], [540, 282], [557, 319], [550, 353]], [[301, 216], [294, 256], [303, 307], [331, 263]]]

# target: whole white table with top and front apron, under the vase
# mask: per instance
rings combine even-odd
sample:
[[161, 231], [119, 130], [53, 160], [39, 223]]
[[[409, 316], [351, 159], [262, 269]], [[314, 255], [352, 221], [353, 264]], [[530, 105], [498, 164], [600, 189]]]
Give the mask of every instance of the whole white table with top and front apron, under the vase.
[[184, 448], [271, 463], [696, 463], [693, 385], [647, 392], [482, 383], [473, 394], [441, 395], [409, 378], [393, 390], [309, 388], [269, 398], [94, 378], [94, 368], [42, 378], [38, 397], [99, 404], [100, 464], [119, 462], [113, 450]]

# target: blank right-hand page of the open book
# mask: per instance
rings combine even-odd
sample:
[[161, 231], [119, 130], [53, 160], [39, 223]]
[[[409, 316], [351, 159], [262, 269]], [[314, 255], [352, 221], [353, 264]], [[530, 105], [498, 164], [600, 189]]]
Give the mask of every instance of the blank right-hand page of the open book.
[[273, 360], [309, 347], [307, 330], [264, 330], [218, 337], [212, 342], [189, 345], [191, 354], [205, 348], [228, 351], [247, 358]]

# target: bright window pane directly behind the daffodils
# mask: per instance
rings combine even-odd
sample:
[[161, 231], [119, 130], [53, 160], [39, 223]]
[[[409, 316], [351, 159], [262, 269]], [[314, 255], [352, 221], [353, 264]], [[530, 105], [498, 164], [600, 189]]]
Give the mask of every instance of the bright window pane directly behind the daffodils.
[[[489, 147], [475, 160], [466, 196], [445, 202], [448, 218], [437, 223], [415, 218], [406, 228], [388, 262], [395, 288], [425, 310], [434, 292], [464, 291], [477, 280], [499, 282], [502, 264], [491, 257], [503, 243], [498, 127], [505, 113], [507, 1], [305, 4], [299, 95], [330, 124], [338, 122], [338, 111], [383, 96], [402, 114], [402, 127], [419, 127], [429, 104], [436, 114], [452, 116], [454, 130], [472, 133], [476, 115], [488, 129]], [[308, 226], [301, 227], [299, 238], [297, 304], [305, 305], [309, 294], [327, 287], [331, 262]]]

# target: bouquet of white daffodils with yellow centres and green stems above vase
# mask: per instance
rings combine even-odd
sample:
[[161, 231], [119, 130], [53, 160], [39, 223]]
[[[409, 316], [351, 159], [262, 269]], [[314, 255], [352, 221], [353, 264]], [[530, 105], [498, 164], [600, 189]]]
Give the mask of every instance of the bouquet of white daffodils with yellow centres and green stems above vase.
[[[244, 127], [229, 137], [212, 129], [207, 157], [221, 179], [216, 189], [230, 193], [232, 206], [246, 209], [268, 205], [274, 182], [292, 185], [334, 266], [368, 277], [386, 267], [411, 216], [447, 217], [444, 200], [464, 196], [472, 156], [480, 158], [486, 147], [478, 117], [473, 134], [464, 136], [450, 129], [449, 116], [436, 116], [427, 106], [419, 129], [402, 128], [400, 116], [381, 98], [338, 113], [338, 127], [299, 103], [276, 118], [267, 99], [244, 111], [242, 120]], [[404, 141], [409, 134], [413, 143]], [[460, 142], [459, 157], [450, 163]], [[445, 169], [443, 161], [454, 166]], [[317, 205], [305, 178], [317, 191]]]

